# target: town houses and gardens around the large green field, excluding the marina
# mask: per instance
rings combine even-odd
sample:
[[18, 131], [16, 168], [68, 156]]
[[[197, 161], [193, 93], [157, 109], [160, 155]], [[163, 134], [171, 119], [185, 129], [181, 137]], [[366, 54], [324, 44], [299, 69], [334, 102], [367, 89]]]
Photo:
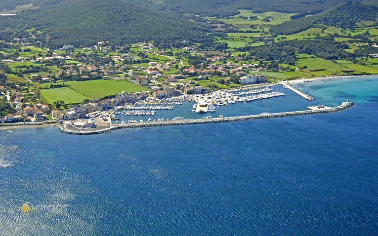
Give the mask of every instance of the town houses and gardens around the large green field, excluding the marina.
[[[3, 123], [80, 120], [76, 122], [78, 126], [95, 127], [104, 122], [110, 123], [108, 111], [117, 107], [135, 106], [142, 102], [159, 104], [165, 100], [188, 101], [198, 94], [221, 89], [222, 85], [227, 88], [266, 82], [264, 74], [260, 73], [264, 70], [262, 67], [237, 63], [242, 60], [241, 56], [230, 58], [235, 61], [232, 63], [224, 56], [199, 54], [187, 46], [182, 48], [182, 54], [198, 55], [202, 60], [198, 69], [189, 66], [189, 61], [168, 56], [168, 52], [158, 51], [149, 43], [135, 44], [133, 50], [126, 49], [129, 53], [123, 53], [124, 47], [108, 46], [106, 41], [81, 48], [77, 53], [74, 53], [73, 45], [51, 51], [24, 43], [23, 39], [0, 43], [4, 48], [2, 67], [9, 73], [8, 78], [17, 78], [0, 87], [4, 101], [9, 105], [5, 107], [12, 111], [3, 115]], [[24, 52], [35, 55], [20, 56]], [[44, 97], [45, 91], [58, 92], [60, 88], [69, 86], [70, 81], [94, 80], [122, 81], [127, 83], [126, 88], [133, 86], [131, 90], [135, 92], [105, 94], [77, 103], [66, 102], [65, 94], [56, 97], [56, 101]], [[94, 114], [101, 114], [100, 118], [95, 119], [97, 116]], [[84, 124], [81, 122], [83, 119], [86, 119]]]

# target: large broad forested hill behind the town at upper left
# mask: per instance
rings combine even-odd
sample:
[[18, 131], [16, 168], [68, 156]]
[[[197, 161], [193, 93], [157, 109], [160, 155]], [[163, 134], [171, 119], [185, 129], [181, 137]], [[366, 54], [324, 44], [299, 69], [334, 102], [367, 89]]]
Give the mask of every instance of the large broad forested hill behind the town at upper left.
[[[4, 23], [3, 23], [4, 24]], [[25, 24], [50, 35], [48, 44], [88, 46], [99, 40], [114, 43], [166, 39], [210, 40], [205, 28], [169, 12], [153, 10], [126, 0], [62, 0], [17, 14], [8, 24]], [[4, 25], [3, 25], [4, 27]]]

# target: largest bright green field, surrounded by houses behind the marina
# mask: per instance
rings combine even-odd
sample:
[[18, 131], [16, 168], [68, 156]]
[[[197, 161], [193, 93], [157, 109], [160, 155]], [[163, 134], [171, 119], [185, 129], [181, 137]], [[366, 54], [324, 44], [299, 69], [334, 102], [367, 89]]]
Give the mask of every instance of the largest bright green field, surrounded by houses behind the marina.
[[[56, 100], [63, 100], [67, 104], [70, 104], [83, 102], [86, 98], [103, 98], [105, 96], [118, 94], [122, 91], [131, 93], [149, 90], [146, 87], [140, 87], [130, 83], [126, 81], [126, 79], [73, 80], [59, 83], [64, 83], [68, 86], [63, 88], [41, 89], [41, 95], [51, 104]], [[50, 84], [51, 83], [42, 83], [41, 86], [45, 88]]]

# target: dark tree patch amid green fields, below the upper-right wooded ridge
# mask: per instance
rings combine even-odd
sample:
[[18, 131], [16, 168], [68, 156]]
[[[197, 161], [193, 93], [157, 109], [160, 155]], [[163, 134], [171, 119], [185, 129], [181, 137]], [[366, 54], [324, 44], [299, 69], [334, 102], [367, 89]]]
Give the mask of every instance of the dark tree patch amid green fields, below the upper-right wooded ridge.
[[329, 40], [286, 40], [268, 45], [249, 47], [250, 55], [258, 60], [276, 60], [279, 63], [294, 65], [294, 53], [307, 53], [327, 60], [353, 57], [346, 52], [347, 44]]

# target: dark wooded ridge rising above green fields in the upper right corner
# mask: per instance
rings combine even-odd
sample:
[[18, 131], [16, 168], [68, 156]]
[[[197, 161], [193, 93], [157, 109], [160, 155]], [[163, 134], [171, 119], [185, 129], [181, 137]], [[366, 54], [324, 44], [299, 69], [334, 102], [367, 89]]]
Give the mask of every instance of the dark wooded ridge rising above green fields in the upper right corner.
[[353, 28], [361, 20], [376, 20], [377, 12], [377, 6], [348, 1], [322, 13], [282, 23], [271, 28], [270, 32], [276, 35], [290, 35], [306, 30], [314, 24]]

